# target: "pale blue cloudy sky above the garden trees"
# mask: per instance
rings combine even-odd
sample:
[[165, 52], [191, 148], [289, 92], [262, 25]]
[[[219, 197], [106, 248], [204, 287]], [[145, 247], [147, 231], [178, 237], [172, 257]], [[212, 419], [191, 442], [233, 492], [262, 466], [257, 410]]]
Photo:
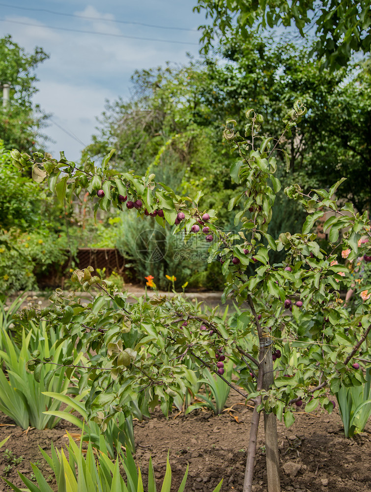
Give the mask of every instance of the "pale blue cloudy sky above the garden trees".
[[[130, 76], [134, 70], [167, 61], [186, 62], [187, 52], [198, 56], [197, 28], [204, 23], [204, 16], [193, 13], [195, 3], [196, 0], [0, 1], [0, 36], [11, 34], [27, 51], [40, 46], [50, 55], [37, 69], [39, 92], [33, 101], [53, 115], [50, 126], [44, 130], [55, 141], [48, 144], [52, 154], [58, 156], [58, 151], [64, 150], [70, 160], [80, 157], [80, 151], [95, 132], [95, 117], [104, 110], [105, 99], [130, 97]], [[71, 31], [65, 31], [68, 29]]]

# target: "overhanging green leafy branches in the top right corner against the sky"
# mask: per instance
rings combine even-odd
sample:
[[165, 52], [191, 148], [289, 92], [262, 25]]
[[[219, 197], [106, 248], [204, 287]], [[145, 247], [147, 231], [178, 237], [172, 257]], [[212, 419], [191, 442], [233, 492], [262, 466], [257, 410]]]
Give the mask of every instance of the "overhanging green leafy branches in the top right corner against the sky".
[[357, 0], [306, 0], [289, 2], [246, 0], [215, 3], [198, 0], [194, 10], [206, 11], [206, 18], [212, 23], [200, 26], [203, 50], [208, 51], [215, 34], [233, 37], [247, 36], [249, 30], [259, 21], [259, 27], [273, 28], [295, 25], [302, 37], [308, 36], [308, 29], [315, 25], [313, 52], [324, 58], [324, 65], [331, 68], [344, 66], [352, 52], [368, 53], [371, 46], [371, 18], [367, 2]]

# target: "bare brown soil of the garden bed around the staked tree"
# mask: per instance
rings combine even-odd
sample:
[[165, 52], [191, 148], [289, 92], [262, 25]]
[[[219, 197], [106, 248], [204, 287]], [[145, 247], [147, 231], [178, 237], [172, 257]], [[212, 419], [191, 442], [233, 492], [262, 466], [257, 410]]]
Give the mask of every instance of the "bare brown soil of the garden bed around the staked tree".
[[[226, 407], [231, 409], [220, 416], [206, 409], [188, 416], [178, 415], [174, 410], [166, 420], [160, 410], [155, 409], [151, 419], [135, 422], [135, 458], [142, 468], [144, 481], [151, 455], [160, 490], [169, 449], [172, 490], [177, 491], [189, 463], [186, 492], [211, 492], [222, 478], [222, 491], [242, 491], [252, 409], [240, 403], [243, 403], [241, 397], [230, 395]], [[8, 464], [3, 455], [8, 448], [16, 457], [23, 457], [17, 467], [26, 476], [31, 474], [29, 461], [38, 461], [48, 477], [51, 469], [39, 453], [38, 445], [50, 452], [52, 440], [58, 448], [66, 444], [66, 429], [78, 432], [70, 424], [59, 423], [54, 430], [25, 433], [19, 427], [11, 427], [11, 423], [0, 413], [0, 441], [11, 435], [0, 450], [0, 476]], [[254, 492], [267, 491], [262, 431], [261, 423]], [[371, 421], [362, 435], [346, 439], [337, 410], [331, 415], [298, 412], [295, 424], [289, 429], [278, 423], [278, 434], [283, 492], [371, 492]], [[8, 472], [7, 478], [22, 486], [16, 466]], [[56, 490], [53, 480], [50, 484]], [[9, 491], [5, 482], [0, 483], [0, 491]]]

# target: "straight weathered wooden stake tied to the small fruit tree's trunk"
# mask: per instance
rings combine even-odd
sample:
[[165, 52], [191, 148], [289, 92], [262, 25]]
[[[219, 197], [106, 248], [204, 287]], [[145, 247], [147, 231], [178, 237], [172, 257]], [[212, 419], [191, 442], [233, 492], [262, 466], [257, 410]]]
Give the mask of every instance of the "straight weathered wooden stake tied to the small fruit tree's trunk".
[[[263, 388], [268, 390], [273, 384], [272, 346], [265, 347], [262, 362], [264, 378]], [[277, 418], [274, 413], [264, 412], [265, 456], [267, 460], [268, 492], [280, 492], [280, 461], [278, 454]]]

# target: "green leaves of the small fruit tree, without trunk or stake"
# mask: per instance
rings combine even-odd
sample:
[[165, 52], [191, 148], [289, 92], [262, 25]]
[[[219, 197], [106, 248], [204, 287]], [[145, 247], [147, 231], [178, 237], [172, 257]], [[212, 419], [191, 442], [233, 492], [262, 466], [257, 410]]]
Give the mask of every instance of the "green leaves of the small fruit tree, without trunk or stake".
[[[284, 118], [285, 128], [280, 140], [291, 135], [292, 129], [305, 113], [306, 108], [300, 101], [296, 102]], [[349, 313], [341, 307], [338, 302], [339, 283], [336, 280], [342, 280], [340, 273], [344, 267], [334, 265], [336, 255], [320, 250], [311, 229], [326, 208], [338, 212], [332, 219], [330, 241], [334, 247], [349, 247], [352, 250], [349, 258], [352, 259], [355, 254], [367, 249], [364, 245], [358, 250], [357, 246], [358, 239], [363, 234], [369, 234], [367, 214], [354, 212], [350, 204], [338, 208], [333, 195], [343, 180], [329, 191], [312, 190], [308, 194], [297, 184], [287, 186], [285, 195], [300, 203], [308, 216], [301, 234], [281, 233], [278, 239], [273, 239], [267, 230], [276, 193], [281, 187], [279, 179], [275, 177], [277, 161], [273, 152], [276, 145], [272, 146], [271, 138], [259, 135], [263, 121], [261, 115], [249, 110], [246, 117], [245, 138], [236, 132], [234, 120], [227, 121], [224, 131], [232, 150], [237, 151], [241, 159], [237, 161], [238, 165], [231, 167], [231, 177], [242, 189], [247, 190], [246, 193], [238, 192], [229, 203], [229, 210], [239, 204], [234, 223], [240, 227], [240, 232], [238, 235], [224, 233], [216, 225], [212, 210], [207, 211], [210, 216], [207, 224], [214, 240], [209, 248], [208, 261], [211, 262], [217, 256], [222, 258], [222, 272], [227, 280], [224, 297], [233, 294], [239, 303], [247, 301], [251, 314], [242, 312], [235, 326], [227, 327], [225, 321], [215, 313], [200, 316], [192, 305], [177, 297], [172, 300], [139, 299], [132, 306], [126, 302], [125, 294], [114, 296], [109, 283], [92, 277], [91, 269], [76, 271], [73, 277], [85, 290], [96, 285], [103, 290], [103, 295], [97, 296], [84, 307], [72, 299], [64, 298], [62, 293], [56, 293], [53, 297], [56, 307], [50, 312], [50, 321], [59, 323], [62, 320], [65, 325], [64, 338], [70, 339], [73, 344], [77, 342], [78, 350], [97, 351], [97, 356], [90, 360], [89, 371], [92, 371], [94, 378], [81, 383], [91, 387], [91, 397], [86, 401], [86, 407], [92, 416], [102, 407], [108, 410], [109, 405], [109, 413], [114, 413], [117, 407], [128, 411], [128, 402], [137, 398], [141, 404], [141, 388], [144, 387], [148, 388], [146, 398], [149, 404], [154, 405], [161, 400], [161, 408], [167, 414], [172, 396], [184, 395], [186, 384], [191, 383], [192, 386], [196, 380], [191, 369], [179, 364], [178, 358], [184, 357], [183, 353], [188, 353], [193, 360], [199, 360], [210, 368], [207, 361], [215, 356], [216, 347], [221, 347], [232, 357], [241, 358], [242, 354], [250, 369], [246, 360], [247, 351], [251, 351], [250, 361], [256, 361], [258, 365], [259, 346], [247, 338], [248, 334], [253, 338], [258, 334], [260, 338], [266, 332], [265, 336], [287, 340], [279, 344], [282, 352], [280, 365], [286, 368], [287, 375], [293, 377], [288, 379], [280, 376], [269, 393], [264, 389], [252, 394], [252, 398], [257, 395], [263, 397], [259, 409], [264, 406], [266, 411], [274, 411], [280, 420], [285, 410], [287, 425], [293, 422], [293, 415], [287, 406], [300, 398], [309, 402], [313, 393], [309, 388], [311, 382], [314, 386], [317, 382], [318, 386], [314, 393], [315, 400], [331, 411], [332, 404], [329, 404], [326, 387], [330, 385], [333, 389], [343, 379], [361, 381], [361, 376], [349, 370], [347, 365], [357, 350], [355, 347], [365, 341], [369, 333], [369, 328], [362, 335], [358, 333], [360, 320], [363, 326], [369, 325], [368, 304], [366, 302], [362, 305], [354, 318], [350, 318]], [[13, 153], [13, 157], [20, 165], [18, 154]], [[62, 154], [59, 162], [44, 158], [33, 163], [33, 167], [38, 169], [38, 175], [48, 176], [49, 185], [56, 189], [61, 199], [64, 196], [69, 199], [74, 191], [79, 193], [86, 179], [86, 189], [91, 198], [96, 196], [97, 189], [103, 187], [105, 196], [96, 202], [95, 210], [98, 207], [105, 210], [111, 203], [122, 209], [117, 196], [125, 192], [133, 201], [140, 199], [143, 208], [145, 206], [149, 212], [161, 208], [165, 220], [171, 224], [177, 214], [182, 212], [184, 219], [176, 225], [174, 233], [185, 230], [185, 241], [192, 238], [191, 227], [204, 213], [198, 208], [199, 197], [180, 197], [165, 184], [154, 181], [153, 175], [143, 178], [132, 173], [119, 175], [108, 168], [108, 159], [101, 168], [87, 161], [84, 169], [77, 169]], [[61, 181], [57, 182], [59, 175]], [[143, 208], [137, 215], [144, 219]], [[156, 221], [163, 224], [163, 219], [158, 216]], [[336, 232], [344, 227], [349, 227], [348, 232], [339, 240]], [[276, 250], [284, 251], [285, 259], [282, 263], [272, 264], [270, 254]], [[232, 262], [232, 258], [237, 261]], [[249, 264], [256, 268], [252, 276], [247, 274], [246, 267]], [[289, 271], [285, 270], [288, 265]], [[264, 295], [261, 296], [260, 292]], [[288, 299], [292, 305], [291, 299], [295, 297], [302, 299], [303, 305], [293, 306], [292, 316], [287, 315], [284, 301]], [[36, 317], [39, 315], [35, 313]], [[261, 322], [257, 318], [260, 315]], [[137, 321], [139, 319], [140, 325]], [[82, 320], [84, 329], [80, 324]], [[184, 326], [184, 321], [189, 326]], [[198, 323], [206, 324], [212, 335], [200, 336]], [[333, 329], [334, 326], [337, 330]], [[318, 345], [314, 342], [318, 342]], [[293, 347], [300, 347], [300, 356], [291, 361]], [[368, 353], [368, 350], [369, 345], [365, 352]], [[317, 362], [320, 364], [314, 369], [313, 365]], [[38, 364], [36, 361], [35, 365]], [[295, 375], [292, 367], [296, 368]], [[103, 388], [109, 385], [111, 378], [114, 379], [112, 393], [105, 391], [103, 394]], [[319, 378], [322, 382], [318, 385]], [[269, 398], [266, 398], [267, 395]]]

